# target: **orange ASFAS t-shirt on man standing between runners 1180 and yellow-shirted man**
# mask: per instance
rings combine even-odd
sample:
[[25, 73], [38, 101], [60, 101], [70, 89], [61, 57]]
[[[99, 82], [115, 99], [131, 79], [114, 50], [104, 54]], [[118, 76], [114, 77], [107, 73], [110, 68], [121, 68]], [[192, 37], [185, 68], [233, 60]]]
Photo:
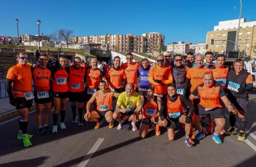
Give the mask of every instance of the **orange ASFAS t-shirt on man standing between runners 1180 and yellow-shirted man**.
[[111, 67], [108, 69], [106, 78], [108, 78], [110, 88], [119, 89], [122, 88], [122, 79], [126, 79], [126, 75], [123, 68], [114, 69]]

